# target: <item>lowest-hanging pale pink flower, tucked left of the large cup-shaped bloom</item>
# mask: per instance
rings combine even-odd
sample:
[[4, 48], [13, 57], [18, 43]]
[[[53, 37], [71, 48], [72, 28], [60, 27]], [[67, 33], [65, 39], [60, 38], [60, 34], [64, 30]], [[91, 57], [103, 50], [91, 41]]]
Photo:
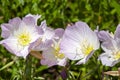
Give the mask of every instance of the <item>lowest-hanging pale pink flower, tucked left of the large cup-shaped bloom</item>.
[[51, 47], [49, 47], [47, 50], [43, 50], [43, 59], [41, 59], [42, 65], [48, 65], [49, 67], [53, 65], [65, 66], [66, 58], [63, 53], [60, 53], [60, 42], [63, 33], [63, 29], [55, 30], [55, 36], [52, 39], [53, 43], [51, 44]]

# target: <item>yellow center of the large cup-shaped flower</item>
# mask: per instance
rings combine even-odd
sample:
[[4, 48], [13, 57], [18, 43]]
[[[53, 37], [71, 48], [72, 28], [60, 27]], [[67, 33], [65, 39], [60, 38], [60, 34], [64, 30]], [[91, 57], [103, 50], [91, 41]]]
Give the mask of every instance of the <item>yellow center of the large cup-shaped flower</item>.
[[83, 52], [85, 55], [90, 54], [90, 52], [93, 51], [93, 49], [94, 49], [93, 46], [90, 45], [90, 44], [87, 42], [87, 40], [85, 40], [85, 41], [83, 42], [81, 50], [82, 50], [82, 52]]

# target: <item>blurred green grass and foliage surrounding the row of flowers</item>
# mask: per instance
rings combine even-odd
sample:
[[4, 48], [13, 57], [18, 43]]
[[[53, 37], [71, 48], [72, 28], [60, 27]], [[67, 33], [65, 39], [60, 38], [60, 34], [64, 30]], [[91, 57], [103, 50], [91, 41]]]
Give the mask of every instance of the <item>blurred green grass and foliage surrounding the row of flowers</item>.
[[[120, 23], [119, 0], [0, 0], [0, 24], [7, 23], [14, 17], [24, 17], [27, 14], [40, 14], [38, 24], [46, 20], [52, 28], [64, 28], [76, 21], [86, 22], [93, 30], [114, 32]], [[0, 38], [2, 40], [2, 38]], [[97, 61], [99, 49], [86, 64], [74, 65], [69, 61], [64, 68], [60, 66], [41, 66], [40, 60], [31, 58], [33, 80], [62, 80], [61, 71], [67, 73], [67, 80], [102, 80], [103, 72], [117, 70], [120, 63], [114, 67], [106, 67]], [[9, 53], [0, 45], [0, 68], [17, 58], [10, 66], [0, 71], [0, 80], [23, 80], [25, 60]], [[104, 80], [118, 80], [118, 77], [104, 76]]]

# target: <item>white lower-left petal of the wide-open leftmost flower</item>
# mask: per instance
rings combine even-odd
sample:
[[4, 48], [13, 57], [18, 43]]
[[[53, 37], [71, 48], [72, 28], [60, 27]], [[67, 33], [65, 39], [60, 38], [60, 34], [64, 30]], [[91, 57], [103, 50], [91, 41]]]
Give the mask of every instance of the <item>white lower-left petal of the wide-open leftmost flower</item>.
[[5, 39], [0, 42], [8, 51], [11, 53], [26, 58], [29, 53], [28, 47], [23, 48], [18, 45], [18, 42], [15, 38]]

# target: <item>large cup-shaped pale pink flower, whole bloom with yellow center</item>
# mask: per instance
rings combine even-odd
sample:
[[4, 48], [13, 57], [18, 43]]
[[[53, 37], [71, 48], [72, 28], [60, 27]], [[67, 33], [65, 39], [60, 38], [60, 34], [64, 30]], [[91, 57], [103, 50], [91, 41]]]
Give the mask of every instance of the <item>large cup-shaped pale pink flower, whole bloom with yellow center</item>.
[[82, 64], [99, 48], [99, 40], [86, 23], [79, 21], [66, 28], [60, 47], [66, 57]]

